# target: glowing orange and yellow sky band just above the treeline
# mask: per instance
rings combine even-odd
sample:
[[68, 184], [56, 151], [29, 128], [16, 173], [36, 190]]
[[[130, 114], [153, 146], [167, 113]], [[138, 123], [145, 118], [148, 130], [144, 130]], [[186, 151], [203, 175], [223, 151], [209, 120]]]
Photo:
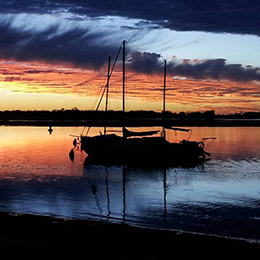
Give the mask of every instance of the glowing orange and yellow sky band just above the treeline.
[[[110, 84], [110, 109], [121, 109], [121, 72]], [[0, 110], [94, 109], [106, 83], [100, 71], [61, 64], [0, 61]], [[127, 72], [127, 110], [162, 109], [162, 75]], [[259, 82], [167, 77], [167, 110], [234, 113], [260, 111]]]

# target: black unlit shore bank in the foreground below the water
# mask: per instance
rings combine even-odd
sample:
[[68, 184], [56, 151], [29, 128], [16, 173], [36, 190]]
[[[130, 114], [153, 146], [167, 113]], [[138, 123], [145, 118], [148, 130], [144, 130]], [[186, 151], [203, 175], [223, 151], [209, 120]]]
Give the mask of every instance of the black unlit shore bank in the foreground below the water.
[[[254, 256], [260, 244], [246, 240], [139, 228], [95, 220], [0, 213], [4, 255], [84, 259], [174, 259]], [[239, 227], [238, 227], [239, 228]]]

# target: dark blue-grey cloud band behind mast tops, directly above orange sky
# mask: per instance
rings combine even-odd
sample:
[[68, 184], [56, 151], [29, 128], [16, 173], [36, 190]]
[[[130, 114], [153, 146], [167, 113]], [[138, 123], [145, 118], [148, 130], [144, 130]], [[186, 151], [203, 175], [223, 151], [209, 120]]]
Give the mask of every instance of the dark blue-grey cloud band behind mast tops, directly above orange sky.
[[[0, 22], [0, 35], [2, 59], [64, 62], [94, 69], [104, 65], [109, 55], [115, 56], [119, 47], [104, 46], [106, 43], [104, 32], [93, 32], [93, 28], [88, 30], [69, 24], [64, 30], [54, 23], [38, 31], [35, 28], [21, 30], [13, 26], [10, 17]], [[128, 51], [127, 65], [132, 71], [145, 74], [162, 73], [163, 60], [160, 54]], [[227, 64], [224, 59], [197, 62], [189, 60], [179, 62], [175, 59], [168, 62], [168, 69], [172, 76], [193, 79], [260, 81], [258, 68]]]

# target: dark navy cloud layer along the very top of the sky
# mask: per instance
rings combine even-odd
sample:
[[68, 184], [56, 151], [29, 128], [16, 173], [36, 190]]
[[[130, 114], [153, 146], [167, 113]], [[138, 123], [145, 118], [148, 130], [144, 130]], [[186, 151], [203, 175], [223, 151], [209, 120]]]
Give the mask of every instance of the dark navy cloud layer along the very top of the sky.
[[178, 31], [260, 35], [259, 0], [1, 0], [0, 6], [1, 12], [66, 10], [92, 17], [138, 18]]

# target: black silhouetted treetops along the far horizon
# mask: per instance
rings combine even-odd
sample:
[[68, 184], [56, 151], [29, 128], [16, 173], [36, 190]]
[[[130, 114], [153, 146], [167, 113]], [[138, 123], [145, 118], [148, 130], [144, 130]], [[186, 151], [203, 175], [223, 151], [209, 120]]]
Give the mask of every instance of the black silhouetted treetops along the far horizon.
[[5, 110], [0, 111], [0, 120], [120, 120], [122, 118], [173, 118], [173, 119], [208, 119], [214, 120], [217, 118], [226, 119], [260, 119], [260, 112], [241, 112], [234, 114], [216, 114], [214, 110], [205, 112], [170, 112], [165, 113], [156, 111], [90, 111], [73, 109], [60, 110]]

